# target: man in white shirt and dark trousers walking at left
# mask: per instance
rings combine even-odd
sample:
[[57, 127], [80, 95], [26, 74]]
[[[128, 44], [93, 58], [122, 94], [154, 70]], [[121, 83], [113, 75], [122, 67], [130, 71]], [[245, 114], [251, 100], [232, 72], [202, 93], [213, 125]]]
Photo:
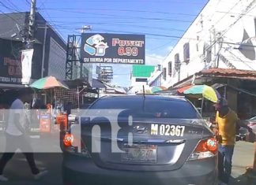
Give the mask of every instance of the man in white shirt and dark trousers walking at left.
[[40, 179], [47, 171], [40, 170], [36, 167], [32, 147], [25, 135], [25, 109], [24, 102], [30, 102], [32, 99], [32, 89], [24, 88], [18, 92], [18, 98], [12, 103], [9, 109], [9, 121], [6, 128], [6, 153], [0, 160], [0, 181], [7, 181], [3, 176], [3, 170], [8, 161], [13, 157], [17, 149], [20, 149], [28, 161], [32, 174], [35, 179]]

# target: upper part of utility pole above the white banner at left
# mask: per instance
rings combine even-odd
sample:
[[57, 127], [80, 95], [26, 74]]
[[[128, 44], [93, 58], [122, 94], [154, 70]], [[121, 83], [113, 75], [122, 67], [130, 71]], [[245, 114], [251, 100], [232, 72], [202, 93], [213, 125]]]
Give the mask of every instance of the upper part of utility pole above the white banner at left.
[[33, 48], [33, 42], [35, 40], [34, 39], [35, 17], [36, 17], [36, 0], [31, 0], [29, 24], [28, 24], [27, 49]]

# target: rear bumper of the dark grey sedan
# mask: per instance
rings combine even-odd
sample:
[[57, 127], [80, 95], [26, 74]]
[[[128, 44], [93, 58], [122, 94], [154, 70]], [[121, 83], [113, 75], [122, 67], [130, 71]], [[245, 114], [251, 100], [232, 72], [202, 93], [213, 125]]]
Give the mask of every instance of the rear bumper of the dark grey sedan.
[[216, 185], [216, 157], [189, 161], [175, 171], [133, 172], [100, 168], [91, 159], [64, 157], [62, 177], [64, 185], [93, 184], [163, 184], [163, 185]]

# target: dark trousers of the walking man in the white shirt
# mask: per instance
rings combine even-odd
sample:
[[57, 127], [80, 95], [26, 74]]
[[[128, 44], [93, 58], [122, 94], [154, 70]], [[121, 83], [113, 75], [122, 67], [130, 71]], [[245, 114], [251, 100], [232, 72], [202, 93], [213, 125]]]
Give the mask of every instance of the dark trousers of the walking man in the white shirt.
[[28, 140], [25, 139], [24, 135], [15, 136], [6, 134], [6, 153], [4, 153], [0, 159], [0, 175], [2, 175], [6, 164], [13, 157], [17, 149], [21, 149], [23, 152], [28, 161], [28, 165], [31, 168], [32, 174], [35, 175], [39, 173], [39, 169], [36, 168], [31, 146], [29, 145]]

